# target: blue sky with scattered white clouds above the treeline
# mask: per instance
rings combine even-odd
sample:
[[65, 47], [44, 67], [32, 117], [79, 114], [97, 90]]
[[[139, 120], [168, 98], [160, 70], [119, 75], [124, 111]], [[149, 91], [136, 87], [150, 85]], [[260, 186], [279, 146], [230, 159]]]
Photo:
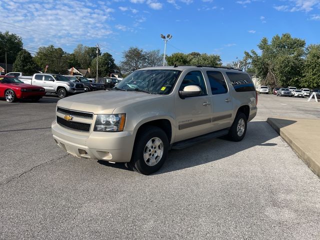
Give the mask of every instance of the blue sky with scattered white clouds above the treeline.
[[0, 31], [23, 38], [34, 53], [53, 44], [67, 52], [101, 45], [116, 63], [123, 50], [219, 54], [224, 64], [285, 32], [320, 43], [320, 0], [0, 0]]

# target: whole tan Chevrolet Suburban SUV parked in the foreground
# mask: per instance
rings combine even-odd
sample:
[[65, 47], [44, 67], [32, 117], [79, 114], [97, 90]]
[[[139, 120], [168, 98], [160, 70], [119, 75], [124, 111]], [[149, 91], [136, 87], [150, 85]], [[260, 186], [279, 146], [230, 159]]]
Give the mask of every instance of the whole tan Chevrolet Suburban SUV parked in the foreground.
[[241, 140], [257, 111], [249, 75], [207, 66], [136, 70], [109, 91], [60, 99], [52, 122], [57, 145], [72, 155], [128, 162], [157, 171], [168, 150], [212, 137]]

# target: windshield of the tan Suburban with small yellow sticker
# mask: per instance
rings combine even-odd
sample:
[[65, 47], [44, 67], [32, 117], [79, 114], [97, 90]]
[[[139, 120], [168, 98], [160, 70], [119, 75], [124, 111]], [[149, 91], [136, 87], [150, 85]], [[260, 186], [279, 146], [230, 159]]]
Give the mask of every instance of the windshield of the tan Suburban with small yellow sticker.
[[121, 80], [116, 88], [169, 94], [180, 73], [179, 70], [169, 69], [136, 70]]

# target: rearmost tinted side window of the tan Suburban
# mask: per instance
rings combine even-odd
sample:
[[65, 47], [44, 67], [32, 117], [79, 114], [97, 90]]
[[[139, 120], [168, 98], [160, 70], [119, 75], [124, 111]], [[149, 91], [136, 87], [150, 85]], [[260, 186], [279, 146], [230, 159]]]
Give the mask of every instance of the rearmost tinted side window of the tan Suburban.
[[225, 72], [235, 91], [255, 91], [254, 85], [248, 74], [241, 72]]

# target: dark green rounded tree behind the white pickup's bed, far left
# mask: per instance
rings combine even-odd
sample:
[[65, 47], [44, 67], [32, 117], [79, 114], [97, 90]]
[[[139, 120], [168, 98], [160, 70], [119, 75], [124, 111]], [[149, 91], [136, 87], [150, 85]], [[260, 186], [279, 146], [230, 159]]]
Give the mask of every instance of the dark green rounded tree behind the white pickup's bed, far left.
[[36, 64], [30, 52], [25, 49], [19, 51], [13, 63], [13, 71], [20, 71], [26, 75], [32, 75], [36, 72]]

